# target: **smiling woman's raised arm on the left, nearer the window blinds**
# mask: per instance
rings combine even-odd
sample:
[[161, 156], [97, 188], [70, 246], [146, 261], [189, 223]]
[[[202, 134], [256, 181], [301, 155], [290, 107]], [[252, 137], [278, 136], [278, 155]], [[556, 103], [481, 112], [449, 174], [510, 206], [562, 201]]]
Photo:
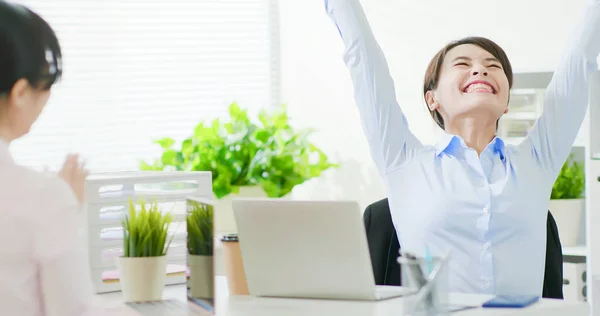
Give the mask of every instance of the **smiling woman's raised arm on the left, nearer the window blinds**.
[[350, 70], [371, 157], [385, 174], [409, 161], [422, 144], [410, 132], [398, 106], [387, 61], [360, 2], [325, 0], [325, 7], [346, 46], [344, 62]]

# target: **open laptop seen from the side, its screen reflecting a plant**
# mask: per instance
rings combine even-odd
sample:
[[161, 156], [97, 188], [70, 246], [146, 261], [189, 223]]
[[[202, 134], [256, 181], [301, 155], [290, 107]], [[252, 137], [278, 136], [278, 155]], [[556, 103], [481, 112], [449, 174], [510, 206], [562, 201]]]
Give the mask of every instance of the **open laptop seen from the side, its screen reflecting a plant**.
[[187, 224], [187, 303], [168, 299], [155, 302], [130, 302], [127, 305], [148, 316], [208, 316], [214, 308], [214, 205], [198, 197], [186, 198]]

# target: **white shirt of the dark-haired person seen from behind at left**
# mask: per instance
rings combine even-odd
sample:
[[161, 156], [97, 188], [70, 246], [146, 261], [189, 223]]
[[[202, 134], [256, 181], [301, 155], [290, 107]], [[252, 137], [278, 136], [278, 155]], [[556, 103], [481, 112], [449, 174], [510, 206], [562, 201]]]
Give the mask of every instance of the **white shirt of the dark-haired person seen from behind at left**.
[[123, 313], [94, 297], [80, 209], [66, 182], [17, 166], [0, 139], [0, 315]]

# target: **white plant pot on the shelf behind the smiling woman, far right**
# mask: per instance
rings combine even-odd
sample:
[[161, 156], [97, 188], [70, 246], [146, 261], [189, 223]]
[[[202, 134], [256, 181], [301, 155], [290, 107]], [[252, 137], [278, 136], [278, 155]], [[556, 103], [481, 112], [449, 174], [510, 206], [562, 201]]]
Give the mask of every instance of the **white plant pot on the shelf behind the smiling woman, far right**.
[[550, 200], [549, 209], [556, 220], [562, 246], [577, 246], [585, 199]]

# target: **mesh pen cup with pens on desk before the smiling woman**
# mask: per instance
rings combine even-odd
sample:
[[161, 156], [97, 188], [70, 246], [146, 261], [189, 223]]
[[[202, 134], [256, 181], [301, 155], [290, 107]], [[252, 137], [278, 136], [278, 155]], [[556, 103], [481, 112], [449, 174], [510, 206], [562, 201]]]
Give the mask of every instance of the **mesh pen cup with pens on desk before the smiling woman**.
[[449, 287], [446, 257], [429, 260], [403, 253], [398, 257], [401, 265], [402, 286], [414, 290], [406, 315], [449, 315]]

